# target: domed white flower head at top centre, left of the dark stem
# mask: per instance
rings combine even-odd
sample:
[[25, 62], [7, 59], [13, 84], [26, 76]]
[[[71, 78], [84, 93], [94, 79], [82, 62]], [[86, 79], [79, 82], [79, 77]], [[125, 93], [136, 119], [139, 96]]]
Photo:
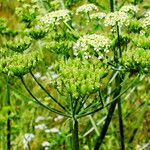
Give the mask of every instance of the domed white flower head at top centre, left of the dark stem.
[[76, 15], [79, 13], [89, 13], [91, 11], [98, 11], [98, 7], [94, 4], [84, 4], [76, 9]]

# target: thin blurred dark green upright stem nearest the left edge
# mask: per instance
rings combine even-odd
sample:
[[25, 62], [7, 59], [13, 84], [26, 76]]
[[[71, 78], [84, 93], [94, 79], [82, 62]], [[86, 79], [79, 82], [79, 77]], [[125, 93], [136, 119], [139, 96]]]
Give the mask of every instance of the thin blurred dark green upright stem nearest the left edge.
[[[7, 105], [10, 106], [10, 87], [9, 87], [9, 79], [7, 79]], [[10, 122], [10, 113], [11, 111], [8, 111], [8, 119], [7, 119], [7, 149], [10, 150], [11, 144], [10, 144], [10, 132], [11, 132], [11, 122]]]

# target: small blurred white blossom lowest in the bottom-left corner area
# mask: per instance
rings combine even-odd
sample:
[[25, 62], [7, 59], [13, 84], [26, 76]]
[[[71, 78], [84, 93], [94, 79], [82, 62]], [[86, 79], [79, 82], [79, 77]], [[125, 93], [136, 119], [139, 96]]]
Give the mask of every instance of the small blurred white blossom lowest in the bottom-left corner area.
[[34, 134], [25, 133], [23, 136], [23, 148], [26, 150], [28, 148], [28, 143], [34, 138]]

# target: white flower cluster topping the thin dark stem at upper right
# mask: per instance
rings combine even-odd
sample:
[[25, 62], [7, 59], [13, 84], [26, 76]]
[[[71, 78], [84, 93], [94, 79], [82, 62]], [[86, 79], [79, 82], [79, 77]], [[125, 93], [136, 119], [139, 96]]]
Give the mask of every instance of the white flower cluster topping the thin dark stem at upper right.
[[107, 14], [104, 20], [104, 25], [114, 27], [116, 24], [118, 24], [119, 27], [128, 26], [129, 16], [122, 11], [116, 11]]

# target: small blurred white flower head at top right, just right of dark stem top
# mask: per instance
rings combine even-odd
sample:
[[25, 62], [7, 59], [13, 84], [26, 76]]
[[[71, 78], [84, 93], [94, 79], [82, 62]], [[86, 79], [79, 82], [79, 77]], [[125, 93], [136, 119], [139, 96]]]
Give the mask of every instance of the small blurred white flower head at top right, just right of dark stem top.
[[121, 7], [120, 11], [125, 12], [125, 13], [137, 13], [139, 10], [138, 6], [135, 5], [125, 5]]

